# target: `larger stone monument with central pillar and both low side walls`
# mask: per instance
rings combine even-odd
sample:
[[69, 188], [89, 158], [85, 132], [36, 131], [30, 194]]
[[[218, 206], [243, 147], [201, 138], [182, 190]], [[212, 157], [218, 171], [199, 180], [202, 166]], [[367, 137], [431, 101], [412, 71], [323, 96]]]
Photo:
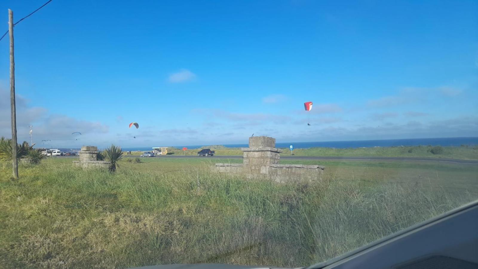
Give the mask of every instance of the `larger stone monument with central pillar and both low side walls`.
[[319, 180], [325, 169], [319, 165], [280, 165], [281, 149], [275, 148], [275, 138], [249, 137], [249, 147], [241, 148], [242, 164], [216, 164], [222, 173], [242, 173], [247, 178], [269, 178], [277, 182]]

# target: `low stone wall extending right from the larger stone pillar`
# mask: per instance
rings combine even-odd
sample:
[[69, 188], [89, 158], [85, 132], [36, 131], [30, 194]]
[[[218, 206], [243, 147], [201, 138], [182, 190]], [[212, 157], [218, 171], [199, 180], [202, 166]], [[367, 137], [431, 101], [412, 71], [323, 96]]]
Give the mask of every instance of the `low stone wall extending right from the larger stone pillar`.
[[325, 167], [320, 165], [272, 164], [269, 177], [277, 182], [317, 181]]

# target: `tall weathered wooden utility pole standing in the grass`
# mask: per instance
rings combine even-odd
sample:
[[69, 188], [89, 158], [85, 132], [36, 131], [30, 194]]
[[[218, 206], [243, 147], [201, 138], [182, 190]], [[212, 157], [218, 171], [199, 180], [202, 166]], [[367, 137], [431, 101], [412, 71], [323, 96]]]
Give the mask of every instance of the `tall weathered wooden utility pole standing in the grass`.
[[13, 178], [18, 179], [17, 159], [17, 114], [15, 112], [15, 59], [13, 48], [13, 11], [8, 10], [8, 32], [10, 35], [10, 108], [11, 108], [11, 162]]

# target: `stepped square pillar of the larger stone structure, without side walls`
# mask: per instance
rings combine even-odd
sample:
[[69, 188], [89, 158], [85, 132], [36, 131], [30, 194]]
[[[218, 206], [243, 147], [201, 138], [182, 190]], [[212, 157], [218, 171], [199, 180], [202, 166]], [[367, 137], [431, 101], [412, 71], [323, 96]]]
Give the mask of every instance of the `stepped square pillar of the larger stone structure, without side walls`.
[[251, 175], [268, 175], [271, 164], [278, 164], [282, 149], [275, 148], [275, 138], [249, 137], [249, 147], [241, 148], [244, 170]]

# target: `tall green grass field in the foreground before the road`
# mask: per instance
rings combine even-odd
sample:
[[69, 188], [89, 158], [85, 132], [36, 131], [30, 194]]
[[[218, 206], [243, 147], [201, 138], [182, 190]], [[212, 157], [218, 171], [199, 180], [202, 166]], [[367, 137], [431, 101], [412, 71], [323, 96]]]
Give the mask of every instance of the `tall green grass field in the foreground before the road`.
[[241, 159], [141, 158], [117, 173], [73, 158], [0, 164], [5, 268], [170, 263], [298, 267], [335, 257], [478, 197], [475, 165], [281, 160], [326, 166], [315, 183], [211, 172]]

